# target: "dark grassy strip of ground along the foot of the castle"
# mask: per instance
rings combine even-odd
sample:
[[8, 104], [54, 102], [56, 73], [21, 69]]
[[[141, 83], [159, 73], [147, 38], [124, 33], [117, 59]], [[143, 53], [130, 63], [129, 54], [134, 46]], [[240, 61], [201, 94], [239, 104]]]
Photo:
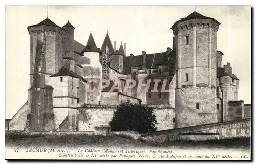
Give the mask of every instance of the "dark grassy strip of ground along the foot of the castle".
[[90, 147], [92, 148], [212, 148], [227, 149], [237, 148], [239, 150], [250, 149], [250, 138], [243, 139], [224, 139], [219, 141], [207, 142], [165, 142], [161, 144], [151, 144], [139, 142], [137, 140], [126, 139], [117, 136], [90, 136], [90, 135], [15, 135], [6, 134], [6, 146], [21, 147]]

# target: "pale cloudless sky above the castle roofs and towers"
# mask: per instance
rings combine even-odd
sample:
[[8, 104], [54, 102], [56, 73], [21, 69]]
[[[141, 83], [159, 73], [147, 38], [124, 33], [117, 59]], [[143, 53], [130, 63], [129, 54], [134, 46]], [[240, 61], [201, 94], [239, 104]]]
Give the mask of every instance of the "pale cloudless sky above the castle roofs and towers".
[[[97, 47], [108, 30], [110, 39], [126, 43], [127, 56], [165, 52], [172, 48], [170, 27], [194, 12], [195, 6], [49, 6], [48, 18], [62, 27], [68, 20], [75, 40], [86, 45], [90, 31]], [[231, 63], [240, 79], [238, 100], [251, 103], [251, 8], [250, 6], [196, 6], [196, 11], [215, 18], [217, 50], [224, 53], [222, 65]], [[6, 118], [28, 99], [30, 44], [27, 27], [47, 18], [47, 6], [6, 6]]]

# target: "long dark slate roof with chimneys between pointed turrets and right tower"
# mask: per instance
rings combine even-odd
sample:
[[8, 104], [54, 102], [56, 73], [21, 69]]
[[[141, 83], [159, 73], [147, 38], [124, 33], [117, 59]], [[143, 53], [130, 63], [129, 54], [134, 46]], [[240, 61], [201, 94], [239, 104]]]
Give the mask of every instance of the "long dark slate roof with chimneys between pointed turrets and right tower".
[[[174, 54], [175, 55], [175, 54]], [[141, 69], [142, 55], [124, 57], [124, 73], [131, 73], [131, 67], [139, 67]], [[154, 57], [155, 56], [155, 57]], [[146, 69], [156, 69], [157, 65], [168, 65], [168, 58], [166, 52], [153, 53], [146, 55]]]

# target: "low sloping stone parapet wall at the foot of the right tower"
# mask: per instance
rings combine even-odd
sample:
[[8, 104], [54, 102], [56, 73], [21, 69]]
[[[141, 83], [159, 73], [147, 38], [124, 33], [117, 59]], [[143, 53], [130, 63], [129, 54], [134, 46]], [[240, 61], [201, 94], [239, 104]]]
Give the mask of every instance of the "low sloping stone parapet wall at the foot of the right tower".
[[220, 139], [250, 137], [250, 127], [251, 119], [244, 119], [157, 131], [141, 135], [140, 139], [151, 142], [167, 142], [177, 140], [179, 134], [182, 133], [219, 133]]

